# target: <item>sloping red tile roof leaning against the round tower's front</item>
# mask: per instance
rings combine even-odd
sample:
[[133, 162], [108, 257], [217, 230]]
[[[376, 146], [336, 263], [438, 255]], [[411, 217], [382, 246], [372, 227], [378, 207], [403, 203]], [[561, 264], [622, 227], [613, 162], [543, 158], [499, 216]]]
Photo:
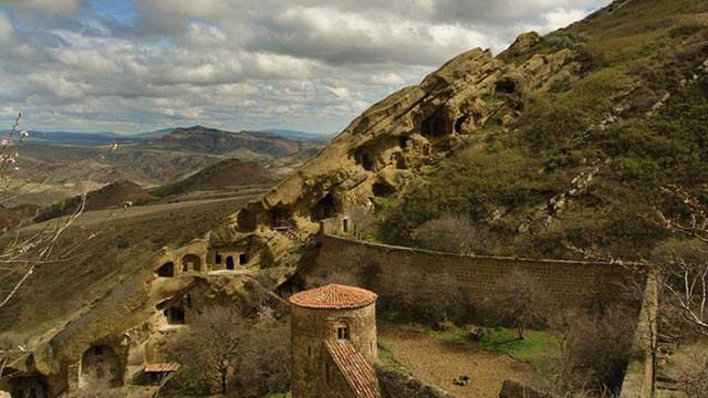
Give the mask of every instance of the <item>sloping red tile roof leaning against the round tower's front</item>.
[[372, 364], [350, 341], [326, 339], [324, 345], [356, 398], [381, 397], [378, 379]]

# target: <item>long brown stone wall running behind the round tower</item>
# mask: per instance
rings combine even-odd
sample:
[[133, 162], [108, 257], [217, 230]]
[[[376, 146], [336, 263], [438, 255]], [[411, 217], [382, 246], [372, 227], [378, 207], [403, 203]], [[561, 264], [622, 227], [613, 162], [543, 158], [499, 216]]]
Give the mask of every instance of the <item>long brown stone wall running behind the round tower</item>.
[[637, 272], [612, 263], [457, 255], [321, 235], [317, 254], [283, 287], [343, 283], [367, 287], [379, 301], [395, 296], [415, 302], [423, 290], [449, 287], [436, 285], [447, 280], [456, 281], [477, 307], [514, 271], [538, 280], [551, 300], [569, 306], [620, 300], [621, 287]]

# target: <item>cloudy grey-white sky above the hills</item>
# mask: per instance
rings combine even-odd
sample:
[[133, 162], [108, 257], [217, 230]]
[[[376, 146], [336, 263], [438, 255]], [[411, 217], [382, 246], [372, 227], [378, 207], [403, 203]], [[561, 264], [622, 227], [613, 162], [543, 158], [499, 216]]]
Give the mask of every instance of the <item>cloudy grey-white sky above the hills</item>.
[[0, 0], [0, 129], [342, 130], [452, 56], [610, 0]]

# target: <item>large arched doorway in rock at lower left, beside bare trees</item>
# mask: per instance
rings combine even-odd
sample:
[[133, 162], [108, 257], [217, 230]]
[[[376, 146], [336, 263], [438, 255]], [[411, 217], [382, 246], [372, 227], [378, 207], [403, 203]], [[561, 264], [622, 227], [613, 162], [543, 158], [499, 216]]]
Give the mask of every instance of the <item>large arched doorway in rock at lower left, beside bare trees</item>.
[[123, 385], [121, 358], [110, 346], [90, 347], [81, 357], [79, 387], [85, 389], [106, 389]]

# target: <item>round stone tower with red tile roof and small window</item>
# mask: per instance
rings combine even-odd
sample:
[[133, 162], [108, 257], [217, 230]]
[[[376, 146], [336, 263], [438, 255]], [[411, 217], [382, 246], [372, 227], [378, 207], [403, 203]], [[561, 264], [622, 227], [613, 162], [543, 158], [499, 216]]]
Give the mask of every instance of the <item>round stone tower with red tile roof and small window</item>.
[[378, 383], [376, 294], [330, 284], [300, 292], [292, 304], [292, 397], [373, 398]]

